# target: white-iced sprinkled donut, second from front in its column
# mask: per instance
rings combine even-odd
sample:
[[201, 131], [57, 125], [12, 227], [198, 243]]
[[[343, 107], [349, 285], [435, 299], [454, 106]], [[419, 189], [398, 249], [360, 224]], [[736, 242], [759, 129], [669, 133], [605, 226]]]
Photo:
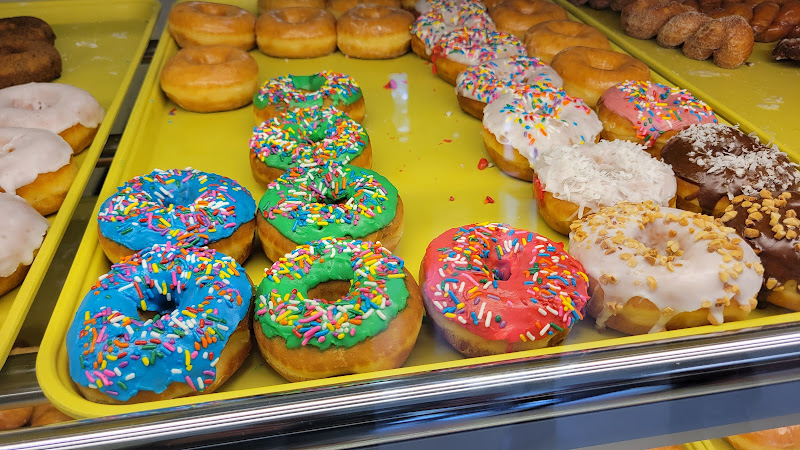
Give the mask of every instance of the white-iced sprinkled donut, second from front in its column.
[[544, 85], [560, 88], [563, 82], [555, 70], [536, 58], [515, 56], [470, 66], [458, 74], [458, 105], [471, 116], [483, 120], [483, 109], [500, 94], [516, 89]]

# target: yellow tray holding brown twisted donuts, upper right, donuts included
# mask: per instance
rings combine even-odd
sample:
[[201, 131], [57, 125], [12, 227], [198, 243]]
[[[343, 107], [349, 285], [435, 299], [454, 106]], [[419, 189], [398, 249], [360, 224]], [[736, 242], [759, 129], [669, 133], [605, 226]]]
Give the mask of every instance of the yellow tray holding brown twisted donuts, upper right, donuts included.
[[800, 2], [556, 1], [717, 114], [798, 159], [800, 89], [791, 86], [800, 74]]

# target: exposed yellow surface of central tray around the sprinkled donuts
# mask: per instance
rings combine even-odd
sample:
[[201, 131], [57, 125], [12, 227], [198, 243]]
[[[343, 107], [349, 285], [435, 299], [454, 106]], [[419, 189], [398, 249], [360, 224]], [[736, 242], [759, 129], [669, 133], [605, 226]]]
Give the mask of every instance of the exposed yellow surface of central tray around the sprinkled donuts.
[[[237, 4], [255, 10], [254, 0]], [[159, 87], [160, 69], [176, 51], [174, 41], [165, 34], [109, 170], [99, 203], [133, 176], [154, 168], [186, 166], [232, 177], [250, 189], [256, 199], [264, 193], [264, 188], [255, 182], [250, 172], [248, 160], [248, 140], [254, 125], [252, 107], [215, 114], [196, 114], [177, 108]], [[373, 169], [397, 186], [405, 204], [405, 230], [395, 253], [406, 260], [412, 273], [418, 270], [425, 248], [434, 237], [448, 228], [476, 221], [507, 222], [564, 240], [564, 236], [552, 231], [536, 213], [530, 183], [507, 177], [497, 168], [478, 170], [479, 160], [488, 159], [480, 137], [480, 122], [459, 109], [453, 87], [433, 75], [431, 66], [415, 55], [388, 61], [361, 61], [348, 59], [341, 53], [310, 60], [274, 59], [255, 50], [251, 54], [258, 61], [261, 80], [290, 72], [314, 73], [321, 69], [349, 73], [358, 80], [367, 105], [364, 126], [372, 140]], [[397, 83], [397, 89], [387, 88], [392, 79]], [[494, 203], [488, 202], [487, 197], [491, 197]], [[256, 247], [245, 264], [247, 273], [255, 283], [259, 283], [266, 267], [267, 260]], [[399, 369], [289, 383], [277, 375], [254, 349], [244, 366], [216, 393], [112, 406], [92, 403], [80, 396], [69, 376], [64, 347], [64, 336], [75, 310], [97, 277], [108, 270], [109, 262], [98, 245], [97, 227], [92, 222], [83, 236], [36, 364], [37, 377], [45, 395], [59, 409], [74, 417], [97, 417], [274, 394], [333, 383], [721, 332], [800, 318], [800, 314], [778, 314], [785, 310], [771, 307], [755, 312], [754, 318], [747, 322], [635, 337], [624, 337], [611, 330], [598, 332], [593, 322], [587, 320], [574, 327], [564, 346], [474, 359], [462, 358], [437, 336], [432, 324], [426, 321], [414, 351], [405, 366]]]

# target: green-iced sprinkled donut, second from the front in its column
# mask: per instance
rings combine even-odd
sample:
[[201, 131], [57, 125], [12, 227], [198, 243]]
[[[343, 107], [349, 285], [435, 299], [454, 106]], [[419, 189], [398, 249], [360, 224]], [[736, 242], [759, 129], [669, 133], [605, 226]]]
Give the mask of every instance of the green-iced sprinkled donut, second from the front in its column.
[[403, 201], [378, 173], [328, 161], [291, 168], [270, 183], [257, 222], [270, 261], [325, 237], [380, 242], [393, 251], [403, 235]]

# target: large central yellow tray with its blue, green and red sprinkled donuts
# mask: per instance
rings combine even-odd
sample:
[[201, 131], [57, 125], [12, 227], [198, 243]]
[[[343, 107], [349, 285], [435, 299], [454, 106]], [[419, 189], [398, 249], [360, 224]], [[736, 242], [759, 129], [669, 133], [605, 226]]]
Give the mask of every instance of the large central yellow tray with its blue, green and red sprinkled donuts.
[[259, 3], [170, 11], [38, 355], [64, 412], [797, 320], [756, 307], [794, 281], [750, 246], [794, 242], [790, 197], [702, 149], [792, 166], [642, 63], [578, 85], [473, 0]]

